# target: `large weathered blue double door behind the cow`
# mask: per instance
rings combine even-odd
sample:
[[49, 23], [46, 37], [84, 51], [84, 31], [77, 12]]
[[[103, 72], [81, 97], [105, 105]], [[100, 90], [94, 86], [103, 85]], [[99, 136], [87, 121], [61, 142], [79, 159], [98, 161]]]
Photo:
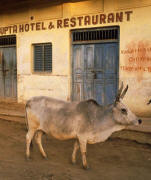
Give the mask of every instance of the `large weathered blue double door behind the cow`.
[[113, 103], [118, 87], [118, 43], [73, 45], [73, 100]]

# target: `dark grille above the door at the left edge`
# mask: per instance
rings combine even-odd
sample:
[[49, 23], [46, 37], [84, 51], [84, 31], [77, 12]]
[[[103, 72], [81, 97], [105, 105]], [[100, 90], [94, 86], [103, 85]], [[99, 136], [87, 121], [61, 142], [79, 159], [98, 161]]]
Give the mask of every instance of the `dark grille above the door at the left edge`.
[[16, 45], [16, 36], [0, 36], [0, 46]]

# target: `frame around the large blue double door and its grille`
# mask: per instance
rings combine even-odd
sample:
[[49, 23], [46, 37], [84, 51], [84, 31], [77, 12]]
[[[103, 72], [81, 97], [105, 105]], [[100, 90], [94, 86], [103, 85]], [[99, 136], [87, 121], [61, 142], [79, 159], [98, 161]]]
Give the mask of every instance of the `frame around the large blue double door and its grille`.
[[[91, 41], [79, 41], [79, 42], [73, 42], [73, 33], [74, 32], [84, 32], [84, 31], [95, 31], [95, 30], [109, 30], [111, 28], [116, 28], [118, 31], [118, 39], [112, 39], [112, 40], [91, 40]], [[120, 26], [106, 26], [106, 27], [97, 27], [97, 28], [81, 28], [81, 29], [72, 29], [70, 31], [70, 100], [73, 101], [73, 46], [74, 45], [86, 45], [86, 44], [104, 44], [104, 43], [117, 43], [118, 48], [118, 62], [117, 62], [117, 89], [119, 86], [119, 44], [120, 44]]]

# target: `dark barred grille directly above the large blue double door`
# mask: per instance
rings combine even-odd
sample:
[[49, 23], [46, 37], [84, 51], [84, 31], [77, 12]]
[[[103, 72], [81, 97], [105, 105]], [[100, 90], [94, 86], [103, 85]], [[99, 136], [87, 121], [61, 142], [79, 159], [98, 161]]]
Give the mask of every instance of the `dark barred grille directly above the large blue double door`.
[[102, 28], [96, 30], [75, 31], [72, 34], [73, 42], [97, 41], [97, 40], [118, 40], [118, 28]]

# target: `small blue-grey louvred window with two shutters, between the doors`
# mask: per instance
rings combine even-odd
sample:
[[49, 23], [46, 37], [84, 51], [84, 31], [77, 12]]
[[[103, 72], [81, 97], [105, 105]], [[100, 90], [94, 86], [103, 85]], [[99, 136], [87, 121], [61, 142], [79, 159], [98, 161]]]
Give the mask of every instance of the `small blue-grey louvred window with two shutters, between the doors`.
[[34, 71], [52, 72], [52, 44], [34, 44]]

